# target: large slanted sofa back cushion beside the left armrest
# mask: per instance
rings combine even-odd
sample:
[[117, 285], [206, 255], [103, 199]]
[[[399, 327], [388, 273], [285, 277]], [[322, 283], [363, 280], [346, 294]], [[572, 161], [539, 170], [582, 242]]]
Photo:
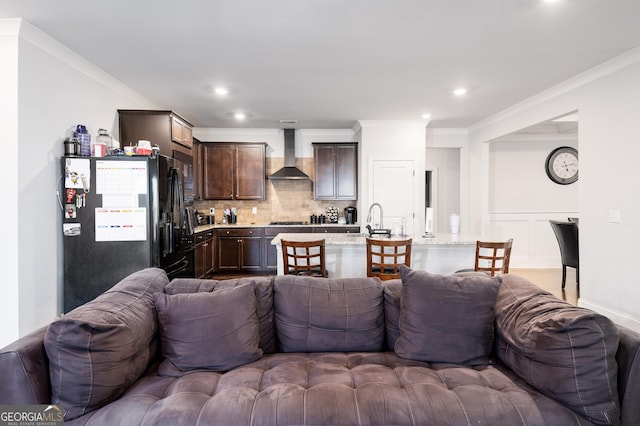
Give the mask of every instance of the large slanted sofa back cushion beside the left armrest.
[[158, 347], [153, 294], [168, 283], [162, 269], [138, 271], [51, 323], [51, 402], [65, 420], [118, 399], [142, 376]]

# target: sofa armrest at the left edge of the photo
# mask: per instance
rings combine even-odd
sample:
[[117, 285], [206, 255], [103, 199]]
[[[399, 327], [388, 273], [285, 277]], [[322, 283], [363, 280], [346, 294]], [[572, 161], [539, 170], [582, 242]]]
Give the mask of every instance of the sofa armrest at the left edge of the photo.
[[0, 349], [0, 401], [3, 404], [50, 404], [49, 359], [42, 327]]

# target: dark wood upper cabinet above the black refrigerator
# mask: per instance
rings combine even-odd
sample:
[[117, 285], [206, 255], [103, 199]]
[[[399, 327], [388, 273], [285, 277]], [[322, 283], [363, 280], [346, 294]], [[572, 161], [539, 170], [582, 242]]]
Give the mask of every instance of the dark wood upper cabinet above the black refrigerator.
[[158, 145], [160, 154], [191, 154], [193, 125], [173, 111], [119, 109], [120, 143], [135, 146], [139, 140]]

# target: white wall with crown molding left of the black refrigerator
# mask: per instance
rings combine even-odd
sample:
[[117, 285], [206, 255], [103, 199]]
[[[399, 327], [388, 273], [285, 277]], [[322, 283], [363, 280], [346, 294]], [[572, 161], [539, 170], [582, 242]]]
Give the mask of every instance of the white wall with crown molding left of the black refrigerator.
[[[4, 96], [0, 101], [7, 121], [2, 173], [8, 174], [3, 180], [8, 208], [0, 214], [5, 238], [15, 242], [6, 246], [17, 248], [2, 256], [2, 304], [8, 307], [0, 313], [2, 346], [61, 312], [62, 232], [56, 189], [69, 129], [81, 123], [93, 136], [100, 127], [116, 133], [118, 108], [157, 106], [26, 21], [0, 20], [0, 34], [0, 87], [3, 94], [12, 86], [17, 93], [17, 102]], [[17, 78], [6, 64], [19, 70]]]

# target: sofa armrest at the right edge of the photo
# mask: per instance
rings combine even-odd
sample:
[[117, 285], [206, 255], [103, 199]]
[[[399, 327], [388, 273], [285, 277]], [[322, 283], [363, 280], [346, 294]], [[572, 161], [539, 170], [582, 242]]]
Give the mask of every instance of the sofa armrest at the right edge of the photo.
[[618, 326], [618, 394], [623, 425], [640, 424], [640, 333]]

